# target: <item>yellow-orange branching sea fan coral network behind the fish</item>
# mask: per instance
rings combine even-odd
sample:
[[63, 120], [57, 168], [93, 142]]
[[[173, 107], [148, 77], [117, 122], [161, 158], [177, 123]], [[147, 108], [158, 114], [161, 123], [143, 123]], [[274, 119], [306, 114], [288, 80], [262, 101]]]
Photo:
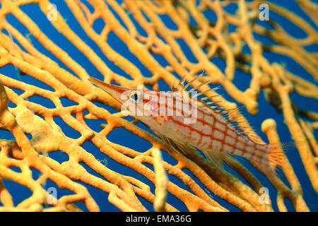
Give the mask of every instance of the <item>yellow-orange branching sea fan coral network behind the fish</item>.
[[[167, 194], [182, 201], [189, 211], [228, 211], [227, 206], [216, 201], [210, 194], [244, 211], [272, 211], [275, 199], [278, 210], [285, 211], [284, 198], [288, 198], [297, 211], [310, 210], [304, 201], [305, 191], [302, 191], [296, 177], [295, 167], [287, 157], [283, 160], [281, 171], [287, 179], [285, 183], [289, 185], [272, 181], [277, 189], [277, 197], [271, 197], [269, 203], [264, 204], [259, 201], [263, 185], [239, 161], [229, 157], [232, 167], [250, 186], [225, 169], [213, 167], [199, 153], [185, 157], [171, 150], [159, 138], [141, 129], [139, 121], [128, 120], [120, 112], [112, 114], [98, 107], [96, 102], [120, 109], [118, 102], [88, 81], [90, 72], [81, 62], [72, 59], [71, 54], [54, 43], [52, 37], [47, 36], [21, 8], [28, 4], [39, 6], [39, 12], [42, 11], [49, 20], [52, 29], [64, 35], [95, 66], [106, 83], [115, 82], [127, 88], [145, 85], [146, 88], [159, 90], [160, 80], [171, 88], [185, 73], [189, 73], [187, 81], [190, 81], [205, 71], [206, 76], [202, 76], [194, 85], [212, 78], [213, 83], [220, 84], [250, 114], [258, 113], [259, 94], [263, 91], [269, 104], [282, 112], [309, 181], [318, 192], [318, 146], [314, 137], [314, 130], [318, 129], [318, 113], [298, 109], [290, 99], [290, 94], [295, 92], [304, 98], [317, 100], [317, 85], [302, 78], [302, 74], [297, 71], [288, 71], [281, 64], [271, 63], [264, 57], [265, 50], [290, 57], [317, 81], [317, 52], [309, 52], [305, 47], [317, 44], [318, 35], [307, 20], [286, 8], [261, 1], [201, 0], [198, 5], [198, 1], [194, 0], [66, 0], [63, 7], [69, 8], [83, 32], [98, 46], [107, 60], [121, 69], [122, 74], [119, 74], [76, 34], [66, 18], [61, 16], [58, 4], [55, 5], [56, 10], [48, 0], [0, 2], [0, 67], [11, 65], [20, 71], [20, 78], [13, 74], [0, 74], [0, 133], [9, 131], [14, 136], [13, 140], [0, 140], [0, 210], [79, 211], [81, 208], [76, 206], [78, 202], [83, 202], [90, 211], [100, 210], [97, 201], [83, 184], [105, 191], [108, 201], [123, 211], [149, 210], [140, 198], [153, 203], [154, 210], [178, 210], [178, 206], [167, 201]], [[259, 20], [259, 5], [264, 3], [271, 12], [298, 26], [307, 37], [295, 38], [272, 20], [268, 21], [271, 29], [256, 23]], [[317, 4], [305, 0], [298, 0], [297, 3], [317, 25]], [[228, 7], [236, 9], [229, 12]], [[214, 22], [208, 18], [208, 11], [216, 15]], [[26, 35], [9, 23], [8, 15], [16, 18], [49, 54], [41, 52]], [[169, 18], [175, 28], [168, 26], [164, 18]], [[97, 20], [105, 23], [101, 32], [93, 28]], [[151, 76], [143, 74], [139, 66], [117, 52], [107, 42], [110, 35], [116, 35]], [[275, 44], [266, 45], [257, 40], [255, 35], [270, 37]], [[180, 44], [180, 40], [187, 48]], [[249, 52], [244, 52], [244, 47]], [[195, 62], [189, 59], [187, 51], [191, 52]], [[213, 64], [211, 59], [216, 57], [223, 59], [225, 70]], [[246, 90], [240, 90], [233, 83], [237, 71], [244, 71], [251, 76]], [[128, 76], [123, 76], [125, 73]], [[23, 75], [45, 83], [51, 90], [24, 82]], [[207, 85], [201, 86], [201, 90], [207, 88]], [[216, 93], [211, 91], [206, 95]], [[54, 108], [31, 102], [29, 99], [33, 96], [52, 101]], [[76, 105], [64, 107], [61, 98], [67, 98]], [[213, 101], [220, 101], [224, 109], [237, 108], [234, 102], [221, 96]], [[237, 111], [229, 112], [232, 119], [242, 117]], [[64, 134], [54, 121], [56, 117], [60, 117], [81, 136], [70, 138]], [[95, 131], [87, 124], [87, 121], [97, 119], [105, 121], [101, 131]], [[124, 128], [139, 136], [151, 143], [152, 147], [143, 152], [111, 142], [107, 136], [117, 128]], [[279, 143], [276, 121], [266, 119], [261, 129], [270, 143]], [[111, 165], [103, 164], [82, 147], [86, 142], [92, 143], [100, 153], [119, 165], [133, 169], [147, 180], [141, 181]], [[279, 149], [283, 151], [281, 147]], [[51, 153], [58, 151], [66, 153], [69, 160], [58, 162], [50, 157]], [[163, 161], [163, 152], [173, 157], [177, 164]], [[88, 172], [83, 165], [99, 174], [99, 177]], [[19, 172], [13, 170], [13, 167], [20, 169]], [[31, 169], [39, 171], [40, 176], [34, 178]], [[170, 181], [171, 177], [181, 180], [188, 189]], [[32, 195], [20, 203], [13, 203], [16, 194], [5, 186], [4, 180], [30, 189]], [[54, 182], [59, 189], [72, 191], [72, 194], [59, 196], [57, 200], [49, 202], [52, 196], [45, 189], [47, 181]], [[155, 185], [155, 191], [151, 191], [150, 184]]]

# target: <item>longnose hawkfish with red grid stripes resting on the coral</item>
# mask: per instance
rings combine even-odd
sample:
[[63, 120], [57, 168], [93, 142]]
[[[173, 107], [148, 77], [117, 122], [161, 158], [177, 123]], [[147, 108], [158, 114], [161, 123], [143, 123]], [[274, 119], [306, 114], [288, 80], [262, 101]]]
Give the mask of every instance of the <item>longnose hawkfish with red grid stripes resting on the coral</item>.
[[[208, 106], [204, 102], [208, 97], [197, 98], [216, 88], [193, 95], [197, 88], [211, 81], [189, 90], [192, 95], [184, 95], [186, 88], [202, 75], [186, 85], [184, 76], [173, 87], [175, 92], [155, 92], [144, 90], [142, 86], [137, 89], [124, 88], [93, 77], [90, 81], [120, 102], [122, 110], [129, 111], [132, 117], [158, 133], [168, 147], [185, 154], [198, 149], [216, 165], [225, 159], [222, 157], [225, 154], [245, 157], [258, 165], [267, 176], [276, 177], [275, 167], [281, 165], [282, 152], [277, 151], [275, 145], [259, 142], [260, 138], [253, 136], [255, 133], [243, 132], [242, 125], [237, 126], [237, 121], [228, 119], [217, 103], [214, 107]], [[180, 86], [182, 89], [178, 90]]]

